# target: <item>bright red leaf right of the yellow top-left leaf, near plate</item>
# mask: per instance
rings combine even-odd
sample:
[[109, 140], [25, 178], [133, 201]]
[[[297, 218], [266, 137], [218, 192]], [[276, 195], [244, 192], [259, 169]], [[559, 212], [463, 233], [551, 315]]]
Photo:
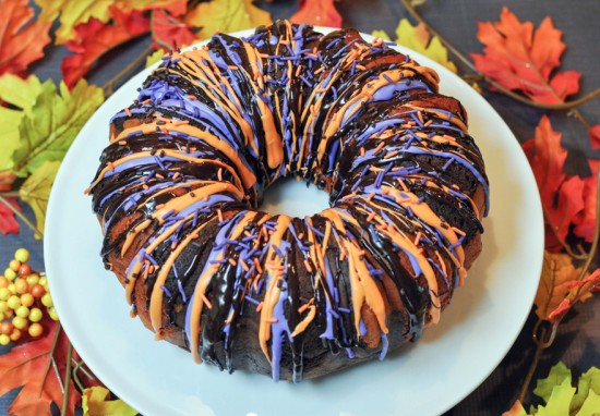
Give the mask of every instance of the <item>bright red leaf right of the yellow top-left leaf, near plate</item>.
[[97, 19], [75, 27], [77, 37], [68, 41], [71, 54], [62, 60], [61, 70], [64, 83], [71, 88], [94, 63], [110, 49], [131, 40], [149, 29], [149, 21], [140, 11], [122, 12], [110, 8], [112, 24], [104, 24]]

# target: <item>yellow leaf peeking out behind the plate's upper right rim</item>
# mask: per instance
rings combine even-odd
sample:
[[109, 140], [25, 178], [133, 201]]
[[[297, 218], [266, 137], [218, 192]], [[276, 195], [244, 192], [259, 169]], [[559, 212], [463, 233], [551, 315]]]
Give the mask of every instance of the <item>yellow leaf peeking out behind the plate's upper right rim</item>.
[[[389, 40], [389, 36], [383, 30], [374, 30], [373, 36]], [[396, 27], [395, 42], [424, 54], [456, 73], [456, 65], [448, 61], [448, 50], [437, 36], [431, 36], [424, 24], [412, 26], [408, 19], [400, 20]]]

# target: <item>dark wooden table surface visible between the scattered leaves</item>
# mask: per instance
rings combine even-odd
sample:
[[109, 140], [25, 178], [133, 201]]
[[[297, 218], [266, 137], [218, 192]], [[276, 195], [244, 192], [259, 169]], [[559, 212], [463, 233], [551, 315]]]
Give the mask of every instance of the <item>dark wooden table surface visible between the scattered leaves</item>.
[[[296, 0], [279, 0], [274, 3], [259, 3], [268, 9], [274, 19], [285, 17], [296, 10]], [[598, 41], [600, 39], [600, 2], [597, 0], [539, 0], [536, 2], [477, 1], [477, 0], [430, 0], [419, 11], [446, 39], [466, 53], [480, 52], [481, 44], [476, 38], [478, 21], [496, 21], [503, 5], [507, 5], [521, 21], [532, 21], [538, 25], [545, 15], [550, 15], [554, 25], [564, 32], [563, 40], [567, 49], [563, 54], [563, 69], [581, 72], [581, 94], [600, 86], [598, 71]], [[385, 29], [393, 34], [401, 17], [407, 17], [399, 0], [340, 0], [337, 3], [344, 16], [345, 26], [353, 26], [361, 32]], [[97, 85], [104, 84], [113, 74], [124, 68], [132, 57], [136, 57], [147, 45], [147, 40], [137, 40], [110, 52], [89, 76]], [[61, 78], [60, 61], [65, 51], [52, 50], [51, 54], [34, 65], [33, 71], [40, 79]], [[460, 65], [458, 65], [460, 69]], [[499, 94], [484, 93], [485, 98], [511, 126], [519, 142], [533, 137], [533, 131], [541, 115], [539, 109], [529, 108]], [[580, 108], [584, 115], [593, 124], [600, 123], [600, 99], [592, 100]], [[586, 157], [600, 159], [600, 151], [590, 148], [589, 139], [580, 123], [567, 117], [565, 111], [548, 112], [555, 130], [563, 132], [563, 145], [569, 149], [568, 173], [587, 174]], [[25, 210], [33, 218], [33, 213]], [[32, 267], [44, 269], [43, 243], [35, 241], [25, 225], [19, 235], [0, 235], [0, 265], [8, 265], [17, 247], [32, 252]], [[598, 258], [596, 264], [598, 265]], [[81, 270], [81, 272], [85, 272]], [[521, 381], [527, 372], [533, 354], [531, 341], [536, 322], [530, 314], [515, 344], [488, 379], [470, 395], [465, 397], [446, 415], [500, 415], [514, 403]], [[600, 299], [579, 304], [569, 313], [559, 328], [556, 340], [541, 358], [533, 379], [545, 377], [550, 367], [563, 360], [578, 376], [591, 366], [600, 366]], [[497, 328], [502, 331], [502, 328]], [[0, 347], [0, 354], [7, 352]], [[0, 414], [7, 412], [15, 392], [0, 397]], [[434, 397], [432, 397], [434, 400]]]

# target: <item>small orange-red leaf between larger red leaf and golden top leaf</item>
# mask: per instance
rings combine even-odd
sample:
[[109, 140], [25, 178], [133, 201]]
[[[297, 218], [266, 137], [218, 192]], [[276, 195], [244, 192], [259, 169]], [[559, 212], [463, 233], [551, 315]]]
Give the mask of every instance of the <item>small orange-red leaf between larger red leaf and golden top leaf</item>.
[[173, 50], [192, 45], [196, 36], [182, 20], [158, 9], [152, 14], [152, 38], [163, 49]]

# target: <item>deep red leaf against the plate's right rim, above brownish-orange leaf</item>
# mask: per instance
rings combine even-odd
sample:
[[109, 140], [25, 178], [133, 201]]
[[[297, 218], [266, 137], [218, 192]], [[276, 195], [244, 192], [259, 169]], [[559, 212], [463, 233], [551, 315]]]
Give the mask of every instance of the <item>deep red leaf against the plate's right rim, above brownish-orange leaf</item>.
[[[563, 167], [567, 152], [561, 147], [561, 133], [552, 130], [543, 115], [536, 127], [536, 137], [523, 145], [538, 183], [547, 222], [547, 248], [556, 238], [563, 243], [575, 218], [584, 210], [585, 183], [579, 176], [566, 176]], [[549, 231], [549, 232], [548, 232]]]

